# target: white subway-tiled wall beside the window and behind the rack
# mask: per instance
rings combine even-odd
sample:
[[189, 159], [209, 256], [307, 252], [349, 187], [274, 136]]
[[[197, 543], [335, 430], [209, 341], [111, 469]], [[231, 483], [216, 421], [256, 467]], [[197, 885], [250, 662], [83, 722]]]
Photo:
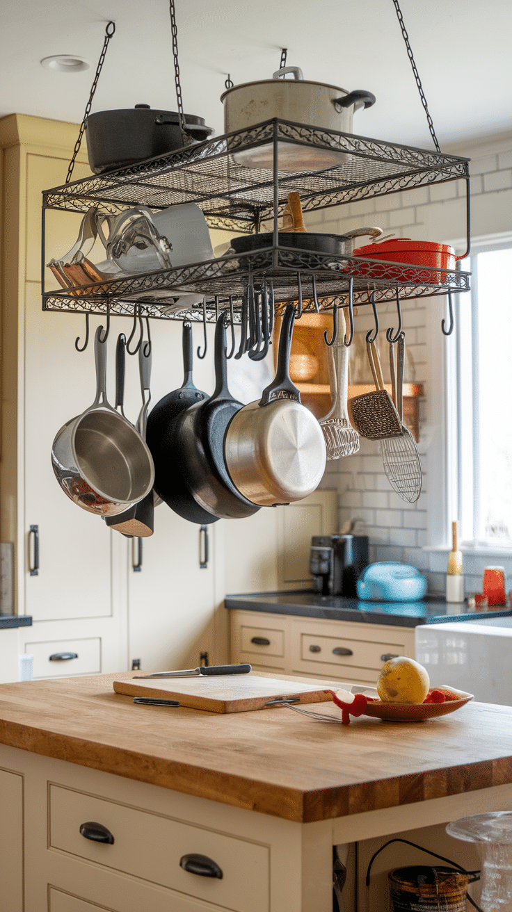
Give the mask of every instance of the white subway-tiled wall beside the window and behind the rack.
[[[512, 134], [489, 137], [464, 147], [444, 149], [455, 155], [471, 158], [471, 219], [472, 237], [482, 238], [490, 234], [506, 233], [512, 230]], [[379, 225], [384, 234], [394, 233], [395, 237], [410, 237], [415, 240], [439, 241], [455, 244], [459, 253], [465, 251], [465, 181], [451, 181], [422, 187], [408, 192], [395, 193], [375, 200], [350, 203], [333, 207], [322, 212], [308, 213], [309, 231], [343, 233], [362, 224]], [[461, 295], [463, 298], [464, 295]], [[425, 384], [425, 400], [420, 410], [419, 451], [423, 465], [423, 491], [417, 503], [403, 502], [387, 481], [381, 463], [379, 444], [369, 440], [360, 441], [360, 452], [343, 460], [328, 463], [322, 484], [337, 487], [340, 492], [340, 525], [347, 519], [360, 516], [370, 535], [371, 561], [397, 560], [412, 563], [428, 571], [432, 591], [444, 591], [446, 554], [432, 555], [423, 550], [424, 545], [447, 544], [447, 530], [444, 541], [434, 540], [434, 531], [429, 532], [427, 523], [427, 501], [430, 487], [431, 502], [435, 503], [435, 491], [439, 485], [437, 472], [429, 476], [429, 451], [436, 431], [432, 415], [438, 409], [434, 398], [439, 396], [440, 386], [431, 378], [430, 365], [434, 352], [428, 343], [429, 314], [432, 310], [439, 321], [439, 345], [444, 344], [441, 333], [441, 319], [444, 316], [444, 299], [423, 298], [404, 302], [402, 305], [403, 326], [406, 345], [413, 356], [414, 379]], [[461, 304], [462, 306], [462, 304]], [[396, 326], [395, 306], [379, 307], [381, 327]], [[356, 330], [367, 330], [373, 326], [371, 308], [360, 307], [356, 317]], [[450, 341], [446, 344], [450, 344]], [[434, 460], [431, 459], [431, 462]], [[440, 492], [442, 492], [440, 487]], [[442, 494], [440, 493], [440, 496]], [[432, 521], [430, 525], [432, 526]], [[362, 531], [362, 527], [358, 527]], [[489, 557], [465, 559], [466, 591], [480, 590], [481, 571], [484, 565], [496, 563]], [[497, 563], [503, 564], [503, 560]], [[507, 563], [507, 561], [505, 561]], [[512, 561], [510, 572], [512, 572]], [[506, 568], [507, 569], [507, 568]]]

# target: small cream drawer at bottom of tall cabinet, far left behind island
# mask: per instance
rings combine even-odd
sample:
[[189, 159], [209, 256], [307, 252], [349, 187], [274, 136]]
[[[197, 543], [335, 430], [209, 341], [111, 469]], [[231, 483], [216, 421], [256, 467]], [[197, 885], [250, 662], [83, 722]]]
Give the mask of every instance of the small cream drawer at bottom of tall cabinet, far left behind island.
[[[34, 678], [68, 678], [71, 675], [99, 674], [101, 671], [100, 637], [26, 643], [25, 651], [34, 656]], [[71, 658], [75, 655], [77, 658]]]

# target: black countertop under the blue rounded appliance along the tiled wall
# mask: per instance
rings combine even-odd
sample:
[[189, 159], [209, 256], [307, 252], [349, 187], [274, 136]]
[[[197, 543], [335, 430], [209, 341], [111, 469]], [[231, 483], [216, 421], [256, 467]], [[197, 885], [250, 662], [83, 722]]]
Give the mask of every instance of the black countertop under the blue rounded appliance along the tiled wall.
[[360, 602], [344, 596], [318, 596], [307, 589], [296, 592], [255, 592], [225, 596], [226, 608], [266, 611], [269, 614], [325, 617], [334, 621], [360, 621], [363, 624], [389, 624], [417, 627], [446, 621], [477, 620], [481, 617], [507, 617], [512, 611], [469, 611], [467, 603], [447, 603], [439, 596], [426, 596], [420, 602]]

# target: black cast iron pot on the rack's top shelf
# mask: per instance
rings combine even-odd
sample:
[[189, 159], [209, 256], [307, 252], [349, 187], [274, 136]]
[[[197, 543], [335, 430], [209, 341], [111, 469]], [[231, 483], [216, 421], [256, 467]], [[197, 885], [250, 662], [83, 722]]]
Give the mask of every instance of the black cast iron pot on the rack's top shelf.
[[[214, 132], [204, 125], [204, 118], [193, 114], [185, 114], [185, 128], [194, 142], [203, 142]], [[86, 137], [89, 165], [95, 174], [183, 148], [177, 111], [155, 110], [149, 105], [89, 114]]]

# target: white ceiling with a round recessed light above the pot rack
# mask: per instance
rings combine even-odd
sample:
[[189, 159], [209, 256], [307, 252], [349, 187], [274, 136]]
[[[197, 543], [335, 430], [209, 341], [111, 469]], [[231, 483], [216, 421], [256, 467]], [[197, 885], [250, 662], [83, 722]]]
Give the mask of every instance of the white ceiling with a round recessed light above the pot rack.
[[[183, 104], [223, 130], [220, 95], [270, 78], [280, 48], [304, 77], [369, 89], [373, 108], [354, 132], [422, 148], [432, 140], [392, 0], [175, 0]], [[423, 90], [443, 149], [510, 130], [509, 0], [402, 0]], [[103, 44], [116, 24], [92, 110], [176, 109], [168, 0], [4, 0], [0, 116], [13, 112], [79, 122]], [[86, 57], [91, 68], [59, 73], [42, 57]]]

